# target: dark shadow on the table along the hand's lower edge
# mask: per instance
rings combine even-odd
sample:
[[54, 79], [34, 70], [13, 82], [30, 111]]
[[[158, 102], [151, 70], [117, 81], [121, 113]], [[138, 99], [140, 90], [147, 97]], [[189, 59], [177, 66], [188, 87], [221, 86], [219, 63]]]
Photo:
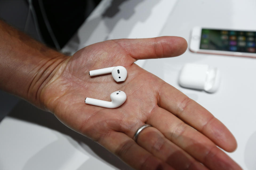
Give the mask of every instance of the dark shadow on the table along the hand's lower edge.
[[[132, 169], [98, 143], [69, 129], [67, 126], [62, 124], [52, 113], [42, 111], [24, 100], [20, 101], [8, 116], [59, 131], [70, 136], [78, 143], [83, 143], [83, 145], [89, 147], [89, 149], [87, 147], [83, 147], [83, 149], [85, 149], [88, 153], [95, 156], [96, 158], [99, 157], [118, 169]], [[81, 168], [86, 167], [82, 165], [79, 169]]]

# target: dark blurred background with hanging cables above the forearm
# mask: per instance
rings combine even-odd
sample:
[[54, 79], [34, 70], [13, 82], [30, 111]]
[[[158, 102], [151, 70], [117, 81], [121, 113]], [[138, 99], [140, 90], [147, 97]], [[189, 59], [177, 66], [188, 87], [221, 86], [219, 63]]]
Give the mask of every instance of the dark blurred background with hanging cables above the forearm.
[[60, 50], [101, 0], [0, 0], [0, 18]]

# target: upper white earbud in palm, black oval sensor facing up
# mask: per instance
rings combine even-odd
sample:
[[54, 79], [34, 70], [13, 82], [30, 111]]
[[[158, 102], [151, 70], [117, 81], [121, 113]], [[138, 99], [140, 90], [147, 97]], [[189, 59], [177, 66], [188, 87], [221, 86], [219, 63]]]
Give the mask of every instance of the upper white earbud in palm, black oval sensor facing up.
[[90, 76], [102, 75], [107, 73], [112, 73], [112, 76], [116, 82], [123, 82], [127, 77], [127, 70], [123, 66], [108, 67], [105, 69], [89, 71]]

